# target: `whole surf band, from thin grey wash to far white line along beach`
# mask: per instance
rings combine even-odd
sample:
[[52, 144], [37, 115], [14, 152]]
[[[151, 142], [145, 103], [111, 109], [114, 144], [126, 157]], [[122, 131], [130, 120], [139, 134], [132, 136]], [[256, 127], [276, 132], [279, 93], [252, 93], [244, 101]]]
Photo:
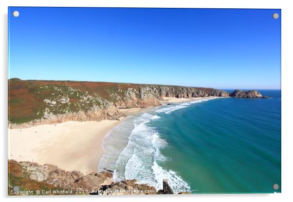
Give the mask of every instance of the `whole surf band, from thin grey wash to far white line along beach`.
[[137, 179], [138, 183], [151, 185], [159, 190], [163, 188], [163, 179], [166, 178], [174, 193], [190, 191], [190, 186], [176, 171], [160, 166], [160, 163], [171, 159], [161, 153], [167, 143], [156, 128], [151, 126], [154, 124], [150, 123], [160, 121], [160, 113], [172, 114], [193, 103], [208, 100], [210, 99], [165, 105], [157, 109], [155, 115], [144, 113], [140, 117], [125, 119], [106, 135], [103, 143], [105, 154], [100, 161], [99, 170], [114, 170], [114, 181]]

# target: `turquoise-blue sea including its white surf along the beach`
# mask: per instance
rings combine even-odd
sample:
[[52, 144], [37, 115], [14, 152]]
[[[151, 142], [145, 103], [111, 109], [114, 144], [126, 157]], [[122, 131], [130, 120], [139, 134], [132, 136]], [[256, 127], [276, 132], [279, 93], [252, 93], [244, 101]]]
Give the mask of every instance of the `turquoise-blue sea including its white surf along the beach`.
[[202, 99], [130, 116], [106, 135], [99, 170], [157, 189], [166, 178], [175, 193], [280, 192], [281, 91], [259, 92], [272, 98]]

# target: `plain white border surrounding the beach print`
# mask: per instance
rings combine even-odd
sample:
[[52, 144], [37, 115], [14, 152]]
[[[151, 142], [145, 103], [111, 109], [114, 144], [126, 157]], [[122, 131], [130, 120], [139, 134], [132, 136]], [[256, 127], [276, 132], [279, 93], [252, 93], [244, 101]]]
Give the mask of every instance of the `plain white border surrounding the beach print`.
[[[150, 201], [150, 200], [201, 200], [201, 201], [239, 201], [248, 200], [258, 201], [280, 201], [292, 198], [292, 170], [293, 163], [291, 154], [293, 154], [293, 130], [292, 124], [292, 93], [290, 85], [293, 86], [292, 78], [292, 20], [293, 7], [289, 0], [1, 0], [1, 137], [2, 137], [2, 155], [1, 155], [1, 197], [7, 200], [7, 7], [8, 6], [57, 6], [57, 7], [166, 7], [166, 8], [275, 8], [282, 9], [282, 193], [281, 194], [212, 194], [212, 195], [192, 195], [192, 196], [105, 196], [105, 197], [86, 197], [86, 200], [119, 200], [122, 201]], [[291, 158], [290, 158], [291, 157]], [[9, 197], [12, 198], [12, 197]], [[52, 201], [53, 197], [16, 197], [11, 200], [18, 201]], [[85, 197], [54, 197], [54, 201], [80, 201]], [[42, 200], [41, 200], [42, 199]]]

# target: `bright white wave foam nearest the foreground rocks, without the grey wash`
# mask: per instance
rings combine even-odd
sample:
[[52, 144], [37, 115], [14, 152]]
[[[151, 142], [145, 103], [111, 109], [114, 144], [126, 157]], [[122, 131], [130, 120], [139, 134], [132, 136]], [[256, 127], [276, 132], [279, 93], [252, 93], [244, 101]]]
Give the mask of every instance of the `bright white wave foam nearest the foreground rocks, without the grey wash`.
[[175, 193], [189, 189], [188, 184], [176, 172], [167, 171], [157, 164], [169, 160], [160, 152], [167, 143], [155, 128], [147, 124], [157, 118], [160, 117], [145, 113], [134, 120], [135, 127], [128, 137], [127, 146], [118, 157], [113, 180], [137, 179], [139, 183], [155, 186], [159, 190], [166, 178]]

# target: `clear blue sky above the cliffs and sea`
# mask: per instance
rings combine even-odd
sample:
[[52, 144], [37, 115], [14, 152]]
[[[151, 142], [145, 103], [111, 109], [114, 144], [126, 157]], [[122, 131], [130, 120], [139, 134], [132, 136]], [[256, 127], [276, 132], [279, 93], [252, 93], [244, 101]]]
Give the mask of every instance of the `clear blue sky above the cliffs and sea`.
[[280, 88], [280, 9], [10, 7], [8, 16], [9, 78]]

